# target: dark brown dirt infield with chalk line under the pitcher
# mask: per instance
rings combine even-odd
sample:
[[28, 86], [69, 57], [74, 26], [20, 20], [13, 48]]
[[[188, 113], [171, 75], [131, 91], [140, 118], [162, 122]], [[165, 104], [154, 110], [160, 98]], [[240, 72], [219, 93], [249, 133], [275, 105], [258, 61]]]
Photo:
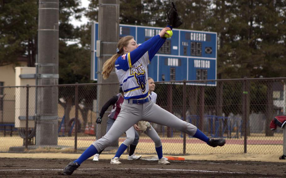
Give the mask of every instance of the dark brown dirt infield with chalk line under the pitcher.
[[[61, 175], [70, 159], [1, 158], [0, 177], [67, 177]], [[262, 161], [157, 161], [120, 159], [121, 165], [110, 160], [86, 160], [70, 177], [285, 177], [285, 162]]]

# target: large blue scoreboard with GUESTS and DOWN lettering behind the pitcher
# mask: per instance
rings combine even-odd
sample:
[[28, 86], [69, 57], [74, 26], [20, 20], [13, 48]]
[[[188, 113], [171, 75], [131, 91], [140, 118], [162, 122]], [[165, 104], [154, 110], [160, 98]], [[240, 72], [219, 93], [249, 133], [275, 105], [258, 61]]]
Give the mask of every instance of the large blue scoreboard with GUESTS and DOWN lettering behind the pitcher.
[[[134, 36], [137, 44], [159, 34], [162, 28], [119, 24], [119, 37]], [[148, 76], [154, 81], [216, 80], [217, 33], [173, 29], [166, 42], [148, 65]], [[92, 27], [91, 80], [97, 80], [98, 60], [96, 40], [98, 23]], [[114, 54], [116, 49], [114, 49]], [[99, 70], [100, 71], [100, 70]], [[215, 81], [195, 82], [193, 85], [216, 86]]]

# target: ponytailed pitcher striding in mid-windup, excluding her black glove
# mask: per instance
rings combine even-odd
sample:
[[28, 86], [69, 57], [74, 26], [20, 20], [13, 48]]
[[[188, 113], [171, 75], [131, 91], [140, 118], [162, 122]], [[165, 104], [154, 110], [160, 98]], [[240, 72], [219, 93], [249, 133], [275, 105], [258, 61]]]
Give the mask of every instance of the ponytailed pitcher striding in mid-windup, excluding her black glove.
[[117, 54], [105, 62], [102, 74], [103, 79], [107, 79], [115, 67], [119, 84], [124, 91], [121, 111], [107, 134], [93, 142], [77, 160], [70, 162], [63, 169], [64, 175], [71, 175], [83, 161], [105, 149], [140, 120], [175, 128], [206, 142], [212, 147], [225, 144], [225, 139], [210, 139], [196, 126], [182, 121], [154, 102], [150, 102], [149, 85], [146, 85], [148, 79], [147, 65], [164, 44], [166, 40], [164, 34], [168, 34], [168, 30], [172, 30], [172, 26], [168, 25], [159, 34], [140, 46], [132, 36], [125, 36], [119, 40]]

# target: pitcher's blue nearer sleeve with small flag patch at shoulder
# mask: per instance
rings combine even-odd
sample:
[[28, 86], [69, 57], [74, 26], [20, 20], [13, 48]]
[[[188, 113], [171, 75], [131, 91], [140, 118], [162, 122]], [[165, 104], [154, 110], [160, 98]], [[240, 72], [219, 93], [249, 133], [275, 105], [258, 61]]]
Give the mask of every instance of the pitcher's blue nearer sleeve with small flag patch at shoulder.
[[123, 69], [124, 71], [127, 71], [133, 64], [135, 64], [135, 62], [137, 62], [137, 60], [139, 60], [148, 50], [150, 50], [150, 48], [152, 48], [155, 43], [160, 40], [160, 35], [153, 36], [138, 46], [138, 48], [135, 50], [118, 57], [115, 62], [115, 67], [117, 69]]

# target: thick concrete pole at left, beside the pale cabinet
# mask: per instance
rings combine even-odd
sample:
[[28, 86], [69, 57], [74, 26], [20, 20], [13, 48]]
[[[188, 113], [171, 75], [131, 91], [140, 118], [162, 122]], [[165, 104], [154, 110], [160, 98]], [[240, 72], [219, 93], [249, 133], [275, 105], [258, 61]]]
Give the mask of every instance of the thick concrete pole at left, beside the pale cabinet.
[[[58, 85], [58, 0], [39, 0], [38, 85]], [[37, 87], [36, 145], [58, 144], [58, 87]]]

